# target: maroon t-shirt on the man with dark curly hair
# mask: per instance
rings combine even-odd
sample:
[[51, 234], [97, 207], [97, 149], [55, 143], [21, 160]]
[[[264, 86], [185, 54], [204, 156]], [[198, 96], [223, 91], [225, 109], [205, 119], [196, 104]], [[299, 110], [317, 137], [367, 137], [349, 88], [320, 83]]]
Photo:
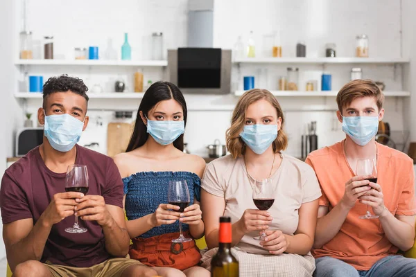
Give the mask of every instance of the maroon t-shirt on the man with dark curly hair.
[[[76, 145], [76, 151], [76, 164], [87, 166], [87, 195], [102, 195], [105, 204], [123, 208], [123, 181], [114, 161], [79, 145]], [[55, 173], [46, 167], [38, 147], [13, 163], [1, 180], [0, 208], [3, 224], [25, 218], [32, 218], [35, 224], [53, 195], [65, 192], [65, 176], [65, 173]], [[79, 219], [79, 225], [87, 228], [87, 232], [65, 232], [73, 222], [74, 217], [69, 216], [53, 225], [41, 262], [92, 267], [112, 258], [105, 249], [103, 229], [97, 222]]]

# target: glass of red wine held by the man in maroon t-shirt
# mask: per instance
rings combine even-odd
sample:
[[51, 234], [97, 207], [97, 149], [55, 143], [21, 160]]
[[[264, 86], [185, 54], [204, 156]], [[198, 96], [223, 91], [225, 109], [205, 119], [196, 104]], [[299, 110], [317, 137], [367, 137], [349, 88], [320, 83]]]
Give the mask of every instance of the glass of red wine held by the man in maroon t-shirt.
[[[65, 191], [73, 191], [76, 193], [88, 193], [88, 171], [87, 166], [72, 165], [68, 166], [67, 179], [65, 180]], [[67, 233], [85, 233], [86, 228], [78, 225], [78, 216], [75, 216], [75, 223], [71, 228], [65, 229]]]

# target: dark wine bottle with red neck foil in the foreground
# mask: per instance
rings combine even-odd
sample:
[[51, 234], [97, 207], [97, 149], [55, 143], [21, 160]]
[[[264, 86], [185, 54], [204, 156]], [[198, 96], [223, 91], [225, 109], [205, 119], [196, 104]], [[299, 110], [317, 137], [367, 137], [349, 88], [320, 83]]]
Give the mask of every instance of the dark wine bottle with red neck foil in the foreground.
[[239, 262], [231, 253], [231, 219], [220, 217], [220, 247], [211, 260], [211, 277], [239, 277]]

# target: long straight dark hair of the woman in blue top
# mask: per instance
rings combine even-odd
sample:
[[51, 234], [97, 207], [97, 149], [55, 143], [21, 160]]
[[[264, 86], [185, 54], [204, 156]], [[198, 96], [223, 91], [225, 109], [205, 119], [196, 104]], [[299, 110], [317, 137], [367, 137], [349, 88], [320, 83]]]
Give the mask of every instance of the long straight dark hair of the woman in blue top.
[[[147, 132], [146, 125], [143, 120], [141, 120], [140, 111], [144, 116], [149, 117], [148, 112], [150, 109], [153, 109], [158, 102], [170, 99], [176, 100], [176, 102], [182, 106], [184, 124], [185, 126], [187, 125], [187, 102], [185, 102], [185, 98], [180, 89], [171, 82], [155, 82], [148, 88], [146, 93], [144, 93], [143, 99], [141, 99], [139, 109], [137, 110], [135, 129], [133, 130], [130, 143], [128, 143], [128, 147], [125, 152], [130, 152], [139, 148], [144, 145], [148, 139], [149, 134]], [[184, 134], [180, 135], [175, 141], [173, 141], [173, 146], [181, 151], [184, 150]]]

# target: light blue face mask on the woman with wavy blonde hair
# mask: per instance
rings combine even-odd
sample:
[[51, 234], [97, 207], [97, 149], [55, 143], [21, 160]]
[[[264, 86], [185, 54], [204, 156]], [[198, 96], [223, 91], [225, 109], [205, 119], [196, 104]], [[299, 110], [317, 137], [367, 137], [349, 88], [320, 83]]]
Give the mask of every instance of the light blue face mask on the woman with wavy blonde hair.
[[263, 154], [277, 138], [277, 125], [245, 125], [241, 139], [256, 154]]

